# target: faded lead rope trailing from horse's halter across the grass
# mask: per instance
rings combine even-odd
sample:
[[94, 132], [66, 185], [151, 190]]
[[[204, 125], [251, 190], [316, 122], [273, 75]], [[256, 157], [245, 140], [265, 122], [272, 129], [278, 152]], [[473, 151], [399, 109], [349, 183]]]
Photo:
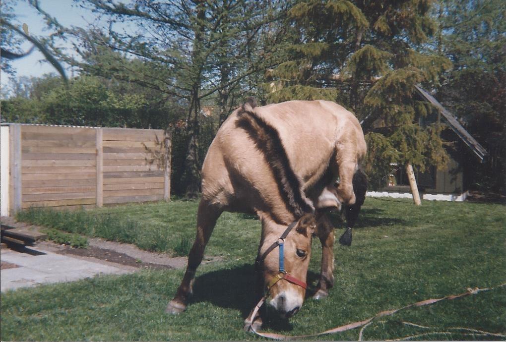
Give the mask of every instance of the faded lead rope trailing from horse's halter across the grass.
[[[382, 312], [377, 313], [375, 316], [370, 317], [368, 319], [365, 319], [363, 321], [348, 323], [346, 325], [341, 325], [341, 326], [338, 326], [338, 327], [335, 327], [335, 328], [332, 328], [332, 329], [325, 330], [323, 332], [319, 332], [319, 333], [315, 333], [315, 334], [309, 334], [309, 335], [289, 336], [289, 335], [276, 334], [276, 333], [270, 333], [270, 332], [259, 332], [259, 331], [255, 330], [255, 327], [252, 324], [250, 326], [251, 326], [251, 331], [253, 331], [257, 335], [262, 336], [262, 337], [277, 339], [277, 340], [292, 340], [292, 339], [301, 339], [301, 338], [305, 338], [305, 337], [314, 337], [314, 336], [326, 335], [326, 334], [331, 334], [331, 333], [336, 333], [336, 332], [343, 332], [343, 331], [355, 329], [355, 328], [358, 328], [358, 327], [361, 327], [361, 326], [364, 326], [364, 328], [365, 328], [365, 326], [369, 325], [374, 319], [379, 318], [379, 317], [384, 317], [384, 316], [392, 316], [393, 314], [395, 314], [396, 312], [401, 311], [401, 310], [409, 309], [409, 308], [412, 308], [412, 307], [421, 307], [421, 306], [425, 306], [425, 305], [430, 305], [430, 304], [434, 304], [434, 303], [441, 302], [441, 301], [444, 301], [444, 300], [451, 301], [451, 300], [454, 300], [456, 298], [465, 297], [465, 296], [468, 296], [468, 295], [471, 295], [471, 294], [477, 294], [479, 292], [494, 290], [496, 288], [503, 287], [503, 286], [506, 286], [506, 282], [502, 283], [500, 285], [497, 285], [495, 287], [490, 287], [490, 288], [478, 288], [478, 287], [475, 287], [473, 289], [472, 288], [468, 288], [468, 290], [466, 292], [462, 292], [460, 294], [447, 295], [447, 296], [441, 297], [441, 298], [430, 298], [430, 299], [425, 300], [425, 301], [409, 304], [409, 305], [407, 305], [405, 307], [402, 307], [402, 308], [399, 308], [399, 309], [382, 311]], [[252, 319], [255, 319], [255, 317], [257, 316], [257, 313], [258, 313], [260, 307], [262, 306], [262, 304], [264, 304], [264, 301], [265, 301], [266, 298], [267, 298], [267, 296], [264, 296], [260, 300], [260, 302], [257, 304], [257, 306], [255, 307], [255, 309], [254, 309], [254, 311], [253, 311], [253, 313], [251, 315]], [[467, 329], [467, 328], [463, 328], [463, 329]], [[468, 329], [468, 330], [471, 330], [471, 329]], [[360, 337], [362, 335], [362, 332], [363, 332], [363, 329], [360, 331]], [[484, 331], [483, 333], [488, 334], [490, 336], [506, 337], [506, 334], [488, 333], [486, 331]]]

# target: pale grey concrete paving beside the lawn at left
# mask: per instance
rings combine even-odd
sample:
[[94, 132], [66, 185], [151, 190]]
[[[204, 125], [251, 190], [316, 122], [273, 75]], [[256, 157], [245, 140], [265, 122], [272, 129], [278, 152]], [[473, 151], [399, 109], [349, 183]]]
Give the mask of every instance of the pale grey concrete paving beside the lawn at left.
[[98, 274], [125, 274], [132, 270], [56, 254], [40, 247], [2, 248], [0, 260], [19, 267], [3, 269], [0, 291], [38, 284], [74, 281]]

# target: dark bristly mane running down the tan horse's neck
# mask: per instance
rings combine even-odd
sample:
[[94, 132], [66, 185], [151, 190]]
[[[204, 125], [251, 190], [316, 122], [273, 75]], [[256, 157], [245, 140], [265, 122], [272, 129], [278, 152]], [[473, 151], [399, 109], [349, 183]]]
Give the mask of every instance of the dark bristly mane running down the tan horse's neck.
[[278, 131], [259, 116], [254, 108], [256, 102], [249, 98], [238, 112], [239, 125], [249, 133], [257, 147], [263, 151], [272, 173], [280, 188], [287, 207], [301, 218], [305, 213], [314, 212], [314, 207], [304, 194], [299, 177], [293, 172]]

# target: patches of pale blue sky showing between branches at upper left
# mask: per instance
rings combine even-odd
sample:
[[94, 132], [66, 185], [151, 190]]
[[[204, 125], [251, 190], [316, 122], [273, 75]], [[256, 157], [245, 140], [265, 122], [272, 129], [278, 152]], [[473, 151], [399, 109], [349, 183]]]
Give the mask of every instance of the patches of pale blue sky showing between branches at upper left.
[[[39, 0], [39, 5], [41, 9], [56, 17], [64, 26], [84, 27], [96, 18], [94, 13], [78, 7], [72, 0]], [[14, 6], [14, 13], [17, 17], [17, 21], [14, 23], [18, 24], [19, 27], [26, 23], [30, 35], [47, 36], [51, 33], [47, 30], [43, 17], [26, 1], [18, 1]], [[62, 46], [71, 47], [69, 43], [62, 43]], [[24, 51], [27, 51], [30, 49], [31, 44], [26, 42], [22, 47]], [[18, 76], [41, 76], [45, 73], [56, 73], [56, 70], [50, 63], [44, 61], [44, 56], [36, 49], [29, 56], [13, 61], [12, 66], [16, 69]], [[70, 76], [70, 69], [66, 68], [66, 70], [67, 76]], [[11, 84], [9, 76], [3, 71], [1, 73], [1, 83], [2, 88]]]

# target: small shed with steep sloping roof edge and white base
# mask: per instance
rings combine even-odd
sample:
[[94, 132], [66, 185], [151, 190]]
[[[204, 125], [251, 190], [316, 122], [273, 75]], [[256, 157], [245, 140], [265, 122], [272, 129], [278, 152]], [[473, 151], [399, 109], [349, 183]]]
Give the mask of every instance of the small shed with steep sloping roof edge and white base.
[[[415, 170], [420, 197], [427, 200], [463, 201], [469, 194], [470, 183], [465, 175], [465, 164], [483, 162], [488, 153], [434, 97], [418, 86], [416, 90], [423, 100], [438, 109], [441, 119], [447, 123], [449, 129], [442, 132], [442, 138], [454, 142], [452, 148], [446, 148], [450, 157], [446, 170], [437, 170], [435, 167], [425, 173]], [[437, 120], [439, 119], [438, 117]], [[403, 165], [392, 166], [394, 172], [389, 175], [387, 186], [379, 191], [369, 191], [367, 196], [412, 198], [405, 168]]]

